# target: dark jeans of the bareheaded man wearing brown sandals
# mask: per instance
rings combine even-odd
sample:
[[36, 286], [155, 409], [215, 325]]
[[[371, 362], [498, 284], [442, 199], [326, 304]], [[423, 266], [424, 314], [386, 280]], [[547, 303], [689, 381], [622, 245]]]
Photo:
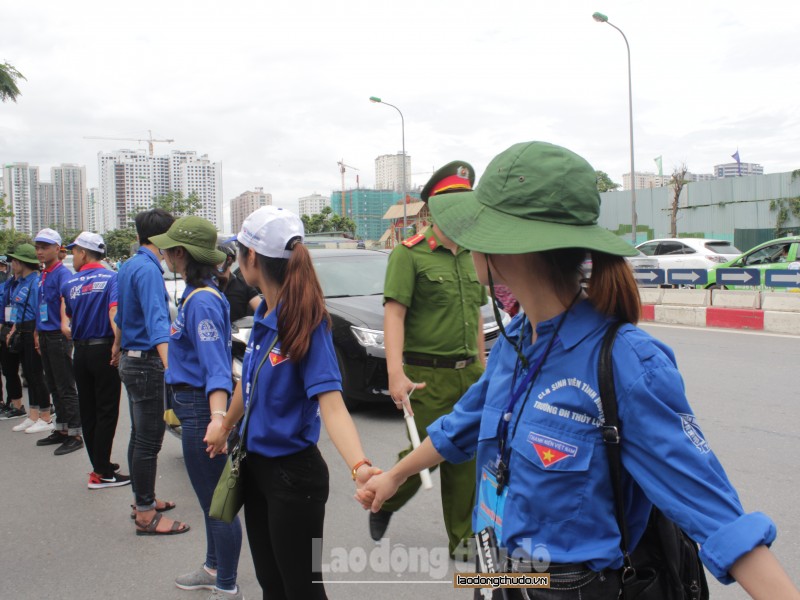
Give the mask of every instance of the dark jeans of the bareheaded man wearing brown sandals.
[[128, 468], [140, 511], [156, 507], [156, 469], [164, 441], [164, 365], [157, 355], [132, 357], [123, 351], [119, 377], [128, 392], [131, 438]]

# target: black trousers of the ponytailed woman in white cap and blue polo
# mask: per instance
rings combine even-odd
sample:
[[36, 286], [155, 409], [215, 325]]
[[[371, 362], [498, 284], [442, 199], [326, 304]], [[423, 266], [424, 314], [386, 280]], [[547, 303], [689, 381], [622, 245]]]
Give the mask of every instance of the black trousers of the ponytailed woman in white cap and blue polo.
[[[244, 460], [247, 538], [264, 600], [325, 600], [321, 552], [328, 465], [316, 446]], [[314, 540], [317, 540], [316, 543]], [[311, 583], [319, 581], [320, 583]]]

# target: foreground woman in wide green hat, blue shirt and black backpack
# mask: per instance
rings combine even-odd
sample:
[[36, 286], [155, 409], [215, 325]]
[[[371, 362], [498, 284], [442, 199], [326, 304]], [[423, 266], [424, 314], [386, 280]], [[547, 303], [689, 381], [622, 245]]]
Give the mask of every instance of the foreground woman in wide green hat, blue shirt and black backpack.
[[[474, 530], [494, 532], [506, 550], [499, 570], [544, 566], [551, 576], [549, 590], [508, 597], [620, 597], [598, 357], [606, 331], [621, 322], [611, 362], [630, 539], [638, 543], [655, 505], [701, 545], [721, 581], [735, 579], [756, 598], [799, 598], [767, 549], [774, 523], [745, 513], [705, 442], [672, 350], [635, 326], [640, 301], [624, 260], [635, 250], [597, 225], [589, 163], [559, 146], [516, 144], [492, 160], [474, 192], [432, 198], [430, 207], [445, 234], [472, 251], [478, 278], [508, 286], [523, 312], [484, 376], [417, 450], [368, 482], [362, 505], [377, 511], [409, 475], [477, 454]], [[541, 565], [542, 545], [549, 564]]]

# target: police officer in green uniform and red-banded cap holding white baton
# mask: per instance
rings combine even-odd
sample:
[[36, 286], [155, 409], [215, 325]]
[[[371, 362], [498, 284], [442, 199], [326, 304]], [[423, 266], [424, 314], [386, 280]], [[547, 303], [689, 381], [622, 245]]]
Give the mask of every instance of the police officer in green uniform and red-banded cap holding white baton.
[[[429, 197], [470, 190], [474, 181], [472, 167], [454, 161], [433, 174], [421, 197], [427, 202]], [[486, 292], [469, 252], [434, 224], [392, 251], [383, 296], [389, 392], [398, 408], [411, 395], [410, 407], [424, 439], [427, 426], [449, 413], [483, 373], [480, 307], [487, 301]], [[453, 555], [472, 536], [475, 466], [445, 463], [441, 479], [442, 510]], [[370, 514], [374, 540], [383, 537], [392, 514], [419, 486], [419, 477], [410, 478], [380, 512]]]

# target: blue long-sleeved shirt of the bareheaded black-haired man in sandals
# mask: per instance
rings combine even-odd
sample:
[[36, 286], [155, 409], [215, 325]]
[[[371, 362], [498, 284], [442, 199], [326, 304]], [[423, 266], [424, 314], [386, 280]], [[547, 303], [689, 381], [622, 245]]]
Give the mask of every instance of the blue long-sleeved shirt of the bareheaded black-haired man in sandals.
[[120, 267], [117, 289], [114, 322], [122, 332], [122, 349], [152, 350], [169, 342], [169, 296], [158, 257], [139, 248]]

